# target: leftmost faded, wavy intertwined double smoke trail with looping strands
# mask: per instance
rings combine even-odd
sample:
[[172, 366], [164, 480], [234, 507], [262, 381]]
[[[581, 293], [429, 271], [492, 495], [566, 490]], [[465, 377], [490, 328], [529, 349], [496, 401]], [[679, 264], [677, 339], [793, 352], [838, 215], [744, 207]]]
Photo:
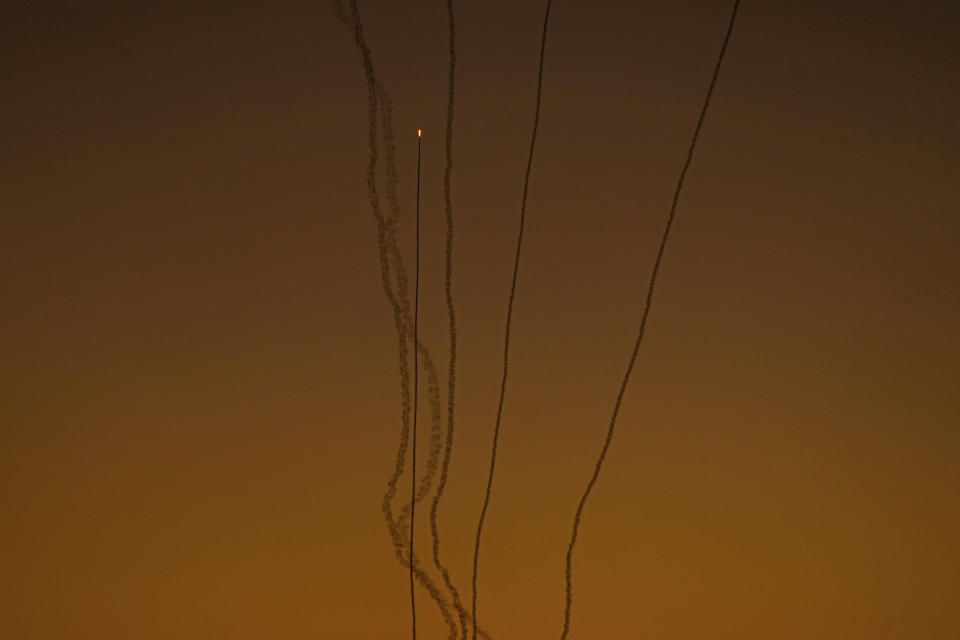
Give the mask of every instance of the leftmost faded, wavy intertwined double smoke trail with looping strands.
[[[391, 474], [389, 480], [387, 481], [387, 491], [384, 494], [382, 500], [382, 510], [384, 512], [385, 519], [387, 521], [388, 531], [393, 542], [394, 551], [397, 556], [398, 561], [403, 567], [413, 566], [413, 572], [417, 581], [423, 586], [423, 588], [428, 592], [431, 599], [434, 601], [438, 607], [441, 615], [444, 620], [447, 622], [448, 627], [450, 627], [450, 640], [455, 640], [456, 638], [456, 623], [453, 621], [453, 618], [450, 614], [450, 603], [441, 593], [440, 589], [435, 585], [431, 580], [429, 575], [419, 566], [418, 560], [415, 555], [404, 556], [404, 551], [406, 547], [406, 531], [404, 524], [406, 522], [406, 517], [410, 514], [412, 509], [412, 504], [422, 500], [426, 494], [429, 492], [430, 483], [432, 481], [433, 475], [435, 475], [437, 468], [437, 458], [439, 456], [439, 431], [440, 431], [440, 409], [439, 409], [439, 399], [438, 399], [438, 384], [436, 371], [433, 366], [432, 358], [430, 353], [427, 350], [426, 346], [417, 340], [415, 342], [415, 348], [420, 356], [424, 359], [424, 369], [427, 373], [428, 378], [428, 397], [430, 398], [431, 404], [431, 452], [430, 457], [428, 458], [426, 464], [426, 473], [423, 480], [420, 484], [420, 489], [417, 492], [417, 495], [412, 503], [404, 505], [400, 511], [400, 514], [395, 518], [393, 515], [392, 503], [396, 495], [397, 483], [400, 476], [403, 473], [404, 461], [406, 458], [406, 450], [409, 441], [410, 434], [410, 380], [409, 380], [409, 371], [408, 371], [408, 352], [406, 346], [406, 338], [409, 335], [410, 321], [409, 321], [409, 304], [407, 303], [407, 287], [406, 287], [406, 271], [403, 267], [402, 255], [400, 253], [399, 247], [396, 242], [396, 234], [394, 223], [396, 222], [399, 216], [399, 202], [396, 198], [396, 169], [395, 163], [393, 162], [394, 158], [394, 143], [393, 143], [393, 129], [391, 125], [390, 117], [390, 103], [389, 97], [387, 96], [386, 89], [379, 82], [376, 77], [376, 73], [373, 69], [372, 56], [370, 49], [366, 44], [364, 34], [363, 34], [363, 24], [360, 19], [359, 8], [357, 6], [356, 0], [351, 0], [350, 3], [350, 12], [348, 13], [346, 7], [343, 5], [341, 0], [332, 0], [332, 5], [335, 14], [343, 22], [347, 28], [351, 30], [354, 35], [355, 43], [357, 49], [360, 53], [361, 61], [364, 69], [364, 76], [367, 83], [367, 94], [368, 94], [368, 114], [369, 114], [369, 140], [368, 145], [370, 149], [370, 160], [368, 163], [367, 170], [367, 187], [368, 187], [368, 199], [370, 201], [371, 210], [373, 211], [374, 218], [377, 222], [377, 233], [378, 233], [378, 248], [380, 251], [380, 266], [381, 266], [381, 280], [384, 289], [384, 294], [387, 297], [388, 302], [390, 303], [391, 309], [393, 311], [394, 325], [397, 330], [398, 335], [398, 366], [400, 369], [400, 382], [401, 382], [401, 434], [400, 434], [400, 443], [397, 448], [397, 457], [394, 465], [394, 471]], [[376, 167], [378, 160], [378, 147], [377, 147], [377, 129], [378, 129], [378, 118], [377, 111], [381, 111], [381, 135], [384, 141], [384, 146], [386, 149], [386, 173], [387, 173], [387, 192], [388, 200], [391, 206], [391, 215], [390, 217], [385, 217], [382, 214], [379, 197], [377, 195], [376, 189]], [[452, 121], [450, 126], [452, 127]], [[451, 136], [452, 139], [452, 136]], [[452, 242], [452, 239], [451, 239]], [[393, 272], [397, 279], [397, 293], [394, 295], [393, 286], [390, 282], [390, 271], [391, 264], [393, 267]], [[448, 427], [449, 429], [449, 427]], [[449, 460], [449, 445], [447, 460]], [[433, 516], [435, 518], [435, 516]], [[434, 541], [436, 548], [436, 539], [437, 532], [436, 526], [433, 524], [434, 531]], [[435, 552], [436, 553], [436, 552]], [[436, 559], [436, 555], [435, 555]], [[449, 580], [449, 576], [445, 576]], [[449, 586], [452, 587], [452, 583], [449, 583]], [[458, 616], [463, 620], [466, 616], [462, 605], [457, 602], [455, 606]], [[462, 624], [461, 624], [462, 626]], [[482, 629], [479, 630], [479, 635], [485, 639], [489, 639], [490, 635], [487, 634]]]

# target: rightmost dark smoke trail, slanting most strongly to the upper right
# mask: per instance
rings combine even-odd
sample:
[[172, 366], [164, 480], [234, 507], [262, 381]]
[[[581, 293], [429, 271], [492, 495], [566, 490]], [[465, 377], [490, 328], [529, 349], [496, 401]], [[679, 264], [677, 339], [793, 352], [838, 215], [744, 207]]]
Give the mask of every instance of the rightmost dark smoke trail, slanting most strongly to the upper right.
[[650, 283], [647, 287], [647, 298], [643, 307], [643, 315], [640, 318], [640, 328], [637, 332], [637, 339], [636, 342], [634, 342], [633, 350], [630, 353], [630, 361], [627, 364], [627, 370], [624, 373], [623, 380], [620, 383], [620, 390], [617, 392], [617, 399], [613, 405], [613, 414], [610, 417], [610, 425], [607, 427], [607, 435], [603, 441], [603, 448], [600, 450], [600, 456], [597, 458], [597, 463], [594, 466], [593, 475], [590, 477], [590, 482], [587, 483], [587, 488], [583, 492], [583, 496], [580, 498], [580, 504], [577, 505], [577, 513], [573, 518], [573, 533], [570, 536], [570, 545], [567, 548], [567, 602], [563, 613], [563, 633], [560, 635], [560, 640], [565, 640], [567, 634], [570, 632], [570, 609], [573, 605], [573, 548], [577, 544], [577, 533], [580, 528], [580, 518], [583, 515], [583, 507], [587, 503], [587, 498], [590, 497], [590, 492], [593, 490], [593, 486], [597, 482], [597, 477], [600, 475], [600, 468], [603, 466], [603, 461], [607, 457], [607, 451], [610, 448], [610, 441], [613, 439], [613, 430], [617, 423], [617, 416], [620, 413], [620, 405], [623, 402], [623, 395], [627, 389], [627, 383], [630, 381], [630, 374], [633, 372], [633, 365], [637, 360], [637, 352], [640, 350], [640, 343], [643, 341], [643, 332], [647, 326], [647, 318], [650, 315], [650, 305], [653, 302], [653, 288], [657, 281], [657, 274], [660, 271], [660, 262], [663, 259], [663, 251], [667, 245], [667, 239], [670, 236], [670, 228], [673, 226], [673, 220], [677, 212], [677, 202], [680, 199], [680, 191], [683, 189], [684, 178], [686, 178], [687, 170], [690, 168], [690, 163], [693, 160], [693, 152], [697, 146], [697, 138], [700, 135], [700, 129], [703, 126], [703, 120], [706, 118], [707, 109], [710, 106], [710, 98], [713, 95], [713, 89], [717, 84], [717, 77], [720, 75], [720, 65], [723, 63], [723, 57], [727, 52], [727, 44], [730, 42], [730, 35], [733, 33], [733, 25], [737, 19], [737, 8], [739, 6], [740, 0], [734, 0], [733, 10], [730, 13], [730, 22], [727, 25], [727, 33], [723, 38], [723, 45], [720, 47], [720, 53], [717, 56], [717, 62], [713, 69], [713, 76], [710, 79], [710, 87], [707, 89], [707, 95], [703, 100], [703, 107], [700, 109], [700, 116], [697, 118], [697, 126], [693, 130], [693, 137], [690, 140], [690, 147], [687, 150], [687, 158], [683, 163], [683, 169], [680, 170], [680, 177], [677, 180], [677, 187], [673, 193], [673, 202], [670, 205], [670, 215], [667, 217], [667, 225], [663, 230], [663, 236], [660, 238], [660, 247], [657, 249], [657, 258], [654, 260], [653, 271], [650, 273]]

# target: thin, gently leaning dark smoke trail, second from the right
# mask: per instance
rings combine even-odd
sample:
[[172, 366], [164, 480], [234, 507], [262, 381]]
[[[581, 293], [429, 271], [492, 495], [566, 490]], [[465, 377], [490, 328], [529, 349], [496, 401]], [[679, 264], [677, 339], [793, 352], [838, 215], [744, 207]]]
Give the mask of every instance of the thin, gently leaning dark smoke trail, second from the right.
[[[543, 59], [547, 48], [547, 25], [550, 22], [550, 6], [553, 0], [547, 0], [547, 8], [543, 14], [543, 35], [540, 39], [540, 64], [537, 70], [537, 104], [533, 113], [533, 133], [530, 136], [530, 155], [527, 158], [527, 171], [523, 177], [523, 197], [520, 201], [520, 229], [517, 232], [517, 250], [513, 257], [513, 278], [510, 282], [510, 297], [507, 301], [507, 326], [503, 340], [503, 377], [500, 380], [500, 399], [497, 402], [497, 418], [493, 427], [493, 446], [490, 450], [490, 472], [487, 477], [487, 491], [483, 498], [483, 508], [480, 510], [480, 521], [477, 524], [477, 537], [473, 545], [473, 579], [472, 579], [472, 618], [477, 620], [477, 567], [480, 563], [480, 536], [483, 533], [483, 521], [490, 506], [490, 493], [493, 490], [493, 472], [497, 462], [497, 443], [500, 438], [500, 419], [503, 415], [503, 399], [507, 392], [507, 370], [510, 364], [510, 323], [513, 318], [513, 300], [517, 292], [517, 273], [520, 270], [520, 251], [523, 247], [523, 223], [527, 215], [527, 192], [530, 186], [530, 169], [533, 166], [533, 151], [537, 144], [537, 125], [540, 123], [540, 98], [543, 92]], [[476, 640], [476, 629], [473, 639]]]

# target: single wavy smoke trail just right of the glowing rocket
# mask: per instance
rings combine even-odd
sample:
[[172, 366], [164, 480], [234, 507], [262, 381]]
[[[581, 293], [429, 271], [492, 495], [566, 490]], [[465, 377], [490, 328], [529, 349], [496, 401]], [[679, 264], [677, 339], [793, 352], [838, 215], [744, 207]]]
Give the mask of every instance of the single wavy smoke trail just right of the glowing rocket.
[[[443, 203], [446, 212], [447, 237], [446, 237], [446, 268], [444, 272], [443, 290], [447, 302], [447, 317], [450, 327], [450, 359], [447, 368], [447, 439], [446, 447], [443, 452], [443, 463], [440, 469], [440, 481], [437, 483], [437, 492], [434, 494], [433, 503], [430, 505], [430, 530], [433, 534], [433, 564], [443, 576], [443, 581], [453, 598], [454, 607], [460, 620], [461, 638], [467, 637], [467, 613], [460, 602], [460, 594], [450, 579], [450, 573], [440, 561], [440, 528], [437, 524], [437, 513], [440, 509], [440, 501], [443, 499], [443, 492], [447, 486], [447, 474], [450, 469], [450, 456], [453, 452], [454, 435], [454, 407], [456, 399], [457, 385], [457, 318], [453, 306], [453, 202], [451, 197], [451, 182], [453, 176], [453, 116], [454, 116], [454, 97], [456, 90], [456, 22], [453, 13], [453, 0], [447, 0], [447, 19], [449, 30], [449, 60], [447, 74], [447, 127], [444, 137], [444, 147], [446, 150], [446, 165], [443, 172]], [[471, 621], [475, 622], [471, 616]]]

